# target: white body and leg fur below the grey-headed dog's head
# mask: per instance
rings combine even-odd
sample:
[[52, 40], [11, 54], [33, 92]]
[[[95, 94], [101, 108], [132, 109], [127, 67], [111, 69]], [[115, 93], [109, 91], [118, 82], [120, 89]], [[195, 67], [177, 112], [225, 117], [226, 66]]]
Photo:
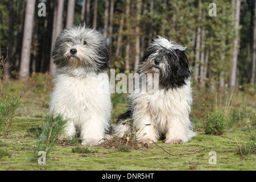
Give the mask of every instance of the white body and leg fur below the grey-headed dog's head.
[[[95, 73], [76, 78], [58, 71], [53, 80], [49, 112], [68, 117], [63, 137], [73, 137], [79, 129], [85, 146], [98, 144], [105, 137], [105, 129], [110, 128], [110, 94], [99, 90], [102, 79], [98, 76]], [[107, 73], [101, 73], [102, 76], [108, 79]]]

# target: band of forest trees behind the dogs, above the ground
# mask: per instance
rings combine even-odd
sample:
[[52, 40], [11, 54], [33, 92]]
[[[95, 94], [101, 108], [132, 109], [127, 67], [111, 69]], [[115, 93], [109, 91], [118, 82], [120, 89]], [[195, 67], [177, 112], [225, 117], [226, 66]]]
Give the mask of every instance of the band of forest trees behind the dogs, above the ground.
[[253, 89], [255, 6], [254, 0], [3, 0], [1, 54], [7, 56], [9, 78], [26, 81], [38, 72], [54, 76], [56, 36], [85, 22], [104, 34], [118, 72], [136, 71], [148, 44], [160, 35], [187, 47], [194, 84], [212, 91]]

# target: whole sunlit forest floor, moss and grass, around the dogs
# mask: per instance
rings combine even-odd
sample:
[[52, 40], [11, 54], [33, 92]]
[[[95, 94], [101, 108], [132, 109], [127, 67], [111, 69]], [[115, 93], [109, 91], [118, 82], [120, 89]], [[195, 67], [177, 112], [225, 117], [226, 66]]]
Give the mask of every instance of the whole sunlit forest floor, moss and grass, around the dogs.
[[[0, 136], [0, 170], [255, 170], [255, 151], [238, 154], [238, 146], [255, 142], [255, 90], [248, 85], [237, 93], [229, 90], [212, 93], [192, 85], [191, 121], [196, 137], [185, 144], [169, 145], [164, 140], [146, 147], [120, 150], [113, 146], [89, 147], [89, 152], [74, 152], [78, 143], [55, 144], [46, 165], [39, 165], [35, 154], [38, 138], [34, 129], [44, 125], [48, 114], [52, 78], [33, 74], [27, 82], [6, 82], [6, 93], [18, 93], [22, 102], [5, 137]], [[112, 94], [112, 121], [126, 110], [127, 94]], [[227, 130], [220, 136], [204, 133], [204, 121], [209, 111], [227, 112]], [[256, 143], [256, 142], [255, 142]], [[254, 146], [255, 147], [255, 146]], [[212, 151], [216, 152], [216, 163]]]

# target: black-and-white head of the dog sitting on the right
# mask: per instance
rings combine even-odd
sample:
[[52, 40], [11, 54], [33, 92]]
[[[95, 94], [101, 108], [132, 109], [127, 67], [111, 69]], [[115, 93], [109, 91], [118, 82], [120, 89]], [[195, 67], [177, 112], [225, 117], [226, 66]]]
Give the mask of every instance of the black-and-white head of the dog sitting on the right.
[[160, 89], [180, 88], [191, 77], [185, 47], [158, 36], [147, 48], [138, 73], [158, 73]]

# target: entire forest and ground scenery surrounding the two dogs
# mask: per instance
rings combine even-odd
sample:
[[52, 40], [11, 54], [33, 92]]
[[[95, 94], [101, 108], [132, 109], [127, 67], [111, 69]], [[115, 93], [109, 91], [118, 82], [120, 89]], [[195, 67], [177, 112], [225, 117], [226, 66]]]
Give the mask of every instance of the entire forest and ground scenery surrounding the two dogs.
[[[0, 170], [255, 171], [255, 9], [255, 0], [1, 0]], [[105, 36], [115, 74], [134, 73], [157, 35], [187, 47], [197, 136], [185, 144], [159, 140], [150, 146], [113, 137], [89, 150], [79, 139], [56, 140], [47, 165], [39, 165], [36, 134], [51, 121], [53, 43], [61, 30], [80, 23]], [[111, 97], [114, 126], [128, 98], [117, 92]], [[225, 121], [212, 119], [215, 113], [225, 113]], [[208, 134], [207, 121], [225, 132]], [[217, 164], [210, 164], [212, 151]]]

